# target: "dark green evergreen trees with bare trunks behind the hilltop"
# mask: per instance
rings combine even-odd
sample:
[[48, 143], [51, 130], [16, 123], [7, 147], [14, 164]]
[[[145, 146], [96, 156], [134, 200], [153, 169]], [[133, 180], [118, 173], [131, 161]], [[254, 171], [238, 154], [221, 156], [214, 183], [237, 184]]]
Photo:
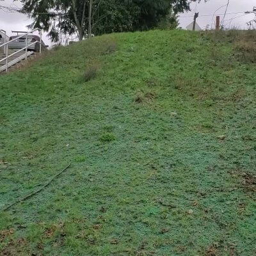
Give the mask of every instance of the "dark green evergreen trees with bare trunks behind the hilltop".
[[93, 33], [136, 31], [156, 28], [163, 20], [177, 26], [175, 15], [189, 10], [197, 0], [21, 0], [30, 28], [47, 31], [52, 42], [60, 35], [79, 40]]

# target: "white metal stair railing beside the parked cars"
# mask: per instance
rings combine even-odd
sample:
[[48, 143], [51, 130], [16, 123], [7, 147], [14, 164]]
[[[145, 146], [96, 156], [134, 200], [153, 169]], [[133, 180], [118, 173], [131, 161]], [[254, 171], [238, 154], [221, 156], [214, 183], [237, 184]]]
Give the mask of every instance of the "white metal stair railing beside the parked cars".
[[[4, 35], [6, 35], [6, 32], [5, 32], [4, 30], [1, 29], [1, 31], [3, 31], [3, 32], [4, 32]], [[31, 43], [31, 44], [28, 45], [28, 35], [31, 34], [31, 33], [33, 33], [34, 31], [39, 31], [40, 41], [36, 40], [35, 42], [33, 42], [33, 43]], [[24, 36], [26, 36], [26, 47], [23, 47], [22, 49], [19, 49], [19, 51], [13, 52], [12, 54], [8, 55], [8, 45], [9, 45], [10, 43], [14, 42], [15, 40], [17, 40], [17, 39], [19, 39], [19, 38], [22, 38], [22, 37], [24, 37]], [[35, 29], [33, 29], [33, 30], [31, 30], [31, 31], [29, 31], [29, 32], [27, 32], [27, 33], [25, 33], [25, 34], [22, 34], [22, 35], [20, 35], [20, 36], [18, 36], [18, 37], [15, 37], [14, 39], [12, 39], [12, 40], [10, 40], [10, 41], [8, 41], [8, 42], [6, 42], [6, 39], [5, 39], [5, 36], [4, 36], [4, 44], [0, 45], [0, 48], [1, 48], [1, 47], [4, 47], [4, 54], [6, 54], [6, 57], [3, 58], [3, 59], [0, 60], [0, 61], [4, 61], [4, 60], [6, 61], [6, 68], [5, 68], [5, 71], [7, 72], [7, 69], [8, 69], [8, 58], [12, 57], [12, 56], [15, 55], [17, 52], [20, 52], [20, 51], [24, 51], [24, 50], [25, 50], [25, 51], [26, 51], [26, 57], [25, 57], [25, 58], [26, 58], [26, 60], [27, 60], [27, 58], [28, 58], [28, 47], [30, 47], [31, 45], [36, 44], [36, 43], [39, 43], [39, 52], [41, 53], [41, 52], [42, 52], [42, 30], [39, 29], [39, 28], [35, 28]]]

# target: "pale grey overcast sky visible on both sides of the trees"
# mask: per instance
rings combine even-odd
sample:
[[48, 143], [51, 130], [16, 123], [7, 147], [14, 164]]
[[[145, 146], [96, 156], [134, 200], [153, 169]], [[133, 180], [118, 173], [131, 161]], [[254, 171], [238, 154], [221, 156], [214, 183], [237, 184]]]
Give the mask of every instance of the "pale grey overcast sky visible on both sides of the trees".
[[[202, 2], [204, 2], [202, 0]], [[193, 16], [195, 12], [199, 12], [199, 17], [197, 19], [198, 25], [201, 28], [205, 28], [207, 24], [214, 26], [214, 22], [212, 22], [212, 15], [213, 13], [227, 3], [227, 0], [209, 0], [208, 3], [200, 3], [200, 4], [191, 4], [192, 12], [188, 13], [180, 13], [180, 26], [182, 28], [186, 28], [189, 23], [193, 21]], [[0, 1], [0, 5], [3, 6], [11, 6], [13, 4], [12, 0], [5, 0]], [[15, 6], [20, 6], [19, 1], [14, 2]], [[246, 22], [252, 20], [255, 15], [253, 13], [244, 15], [243, 12], [248, 10], [253, 10], [253, 6], [256, 6], [256, 0], [230, 0], [230, 4], [228, 6], [227, 13], [234, 13], [234, 14], [227, 14], [225, 17], [224, 24], [230, 28], [236, 26], [236, 28], [246, 29], [248, 26]], [[241, 13], [238, 13], [241, 12]], [[220, 8], [216, 12], [216, 14], [223, 14], [225, 13], [225, 7]], [[209, 16], [203, 16], [209, 15]], [[239, 17], [243, 15], [242, 17]], [[220, 15], [221, 19], [223, 15]], [[234, 19], [233, 19], [234, 18]], [[213, 19], [214, 20], [214, 19]], [[12, 30], [19, 30], [19, 31], [28, 31], [26, 26], [31, 23], [31, 20], [26, 17], [26, 15], [22, 15], [20, 13], [6, 13], [3, 10], [0, 10], [0, 29], [4, 29], [7, 31], [7, 34], [10, 36], [12, 35]], [[45, 44], [51, 44], [46, 37], [46, 33], [44, 33], [44, 41]]]

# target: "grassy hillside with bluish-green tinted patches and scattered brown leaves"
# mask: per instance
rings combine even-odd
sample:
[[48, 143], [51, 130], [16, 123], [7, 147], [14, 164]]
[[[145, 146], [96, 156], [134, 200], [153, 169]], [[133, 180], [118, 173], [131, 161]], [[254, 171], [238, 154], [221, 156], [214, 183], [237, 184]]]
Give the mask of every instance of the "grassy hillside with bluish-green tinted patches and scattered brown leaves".
[[254, 41], [114, 34], [0, 76], [0, 254], [255, 255]]

